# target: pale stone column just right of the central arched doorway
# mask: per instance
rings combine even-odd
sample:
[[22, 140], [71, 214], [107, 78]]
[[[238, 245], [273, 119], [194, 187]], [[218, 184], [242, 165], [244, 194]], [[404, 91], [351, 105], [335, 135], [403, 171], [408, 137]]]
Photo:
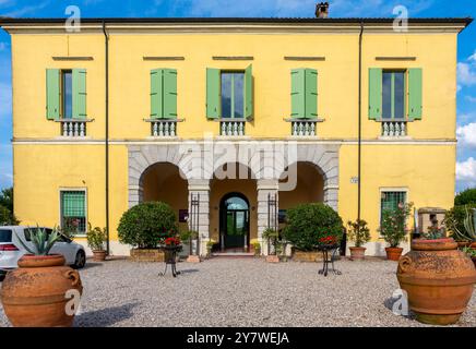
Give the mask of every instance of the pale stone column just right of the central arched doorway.
[[[269, 195], [276, 196], [276, 213], [279, 208], [278, 205], [278, 180], [261, 179], [257, 181], [258, 190], [258, 241], [260, 242], [262, 249], [261, 253], [267, 254], [267, 241], [263, 240], [263, 231], [269, 228], [269, 207], [267, 201]], [[271, 218], [272, 219], [272, 218]], [[277, 221], [275, 222], [277, 226]], [[274, 222], [271, 220], [271, 226]]]

